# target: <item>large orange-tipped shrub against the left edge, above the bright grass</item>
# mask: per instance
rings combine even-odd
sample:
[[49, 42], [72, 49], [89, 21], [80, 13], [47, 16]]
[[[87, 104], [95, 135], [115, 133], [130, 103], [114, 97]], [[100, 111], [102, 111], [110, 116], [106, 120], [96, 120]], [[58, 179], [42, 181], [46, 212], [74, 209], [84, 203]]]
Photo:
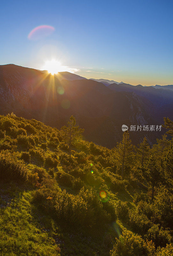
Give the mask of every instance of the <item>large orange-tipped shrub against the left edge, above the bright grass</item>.
[[2, 180], [26, 181], [26, 166], [6, 150], [0, 153], [0, 177]]

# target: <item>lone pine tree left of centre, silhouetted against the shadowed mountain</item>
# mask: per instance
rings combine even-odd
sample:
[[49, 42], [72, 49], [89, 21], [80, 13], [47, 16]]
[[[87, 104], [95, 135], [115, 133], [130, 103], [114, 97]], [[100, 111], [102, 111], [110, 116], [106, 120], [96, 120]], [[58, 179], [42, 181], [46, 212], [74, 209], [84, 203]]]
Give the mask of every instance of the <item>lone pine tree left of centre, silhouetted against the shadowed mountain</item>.
[[71, 116], [70, 120], [68, 121], [68, 126], [63, 126], [61, 131], [63, 132], [63, 140], [69, 146], [69, 154], [71, 156], [71, 145], [81, 136], [84, 129], [79, 129], [79, 126], [76, 125], [75, 117]]

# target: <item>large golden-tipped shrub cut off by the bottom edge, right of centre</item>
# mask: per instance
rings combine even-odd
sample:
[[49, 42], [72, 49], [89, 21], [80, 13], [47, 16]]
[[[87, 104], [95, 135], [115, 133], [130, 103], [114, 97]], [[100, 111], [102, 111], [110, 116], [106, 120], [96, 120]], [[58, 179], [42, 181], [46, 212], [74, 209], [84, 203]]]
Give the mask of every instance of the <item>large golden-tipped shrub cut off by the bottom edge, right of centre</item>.
[[145, 242], [141, 236], [125, 230], [116, 243], [110, 256], [149, 256], [154, 255], [154, 244]]

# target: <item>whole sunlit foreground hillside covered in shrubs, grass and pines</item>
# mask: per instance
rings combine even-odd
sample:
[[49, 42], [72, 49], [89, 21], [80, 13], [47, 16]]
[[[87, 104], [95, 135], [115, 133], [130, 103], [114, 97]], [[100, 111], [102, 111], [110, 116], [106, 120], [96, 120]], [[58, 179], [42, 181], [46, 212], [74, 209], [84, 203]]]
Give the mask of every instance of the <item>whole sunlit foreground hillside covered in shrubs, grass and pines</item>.
[[0, 116], [0, 255], [172, 255], [173, 140], [124, 132], [108, 149], [82, 133], [73, 116], [60, 130]]

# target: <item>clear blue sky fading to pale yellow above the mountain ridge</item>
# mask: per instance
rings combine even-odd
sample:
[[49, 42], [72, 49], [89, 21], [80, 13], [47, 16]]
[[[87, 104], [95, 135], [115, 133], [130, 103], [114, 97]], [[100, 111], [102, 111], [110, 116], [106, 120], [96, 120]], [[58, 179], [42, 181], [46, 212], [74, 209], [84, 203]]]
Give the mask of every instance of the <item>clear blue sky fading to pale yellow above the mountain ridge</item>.
[[[172, 11], [172, 0], [2, 1], [0, 64], [54, 59], [86, 78], [173, 84]], [[54, 31], [28, 38], [41, 25]]]

